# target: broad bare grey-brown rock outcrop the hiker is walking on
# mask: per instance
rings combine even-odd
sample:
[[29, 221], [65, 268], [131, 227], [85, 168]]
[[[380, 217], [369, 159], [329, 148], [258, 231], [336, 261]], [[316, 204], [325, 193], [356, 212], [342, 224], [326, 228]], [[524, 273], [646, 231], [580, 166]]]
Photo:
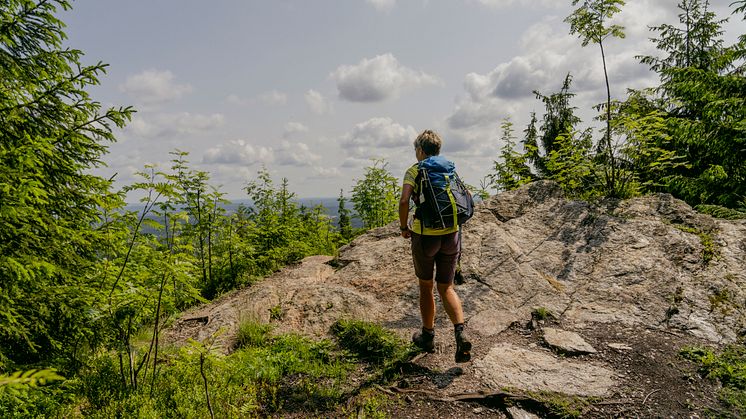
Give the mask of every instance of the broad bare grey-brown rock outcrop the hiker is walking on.
[[[409, 245], [395, 224], [370, 231], [333, 261], [308, 258], [186, 314], [168, 334], [172, 340], [203, 338], [227, 327], [229, 348], [240, 318], [275, 323], [278, 332], [323, 336], [338, 318], [351, 317], [407, 338], [420, 325]], [[698, 214], [670, 195], [591, 205], [565, 199], [554, 183], [537, 182], [490, 198], [463, 229], [466, 280], [457, 292], [477, 345], [489, 346], [475, 346], [466, 374], [471, 381], [462, 389], [508, 386], [600, 396], [623, 379], [624, 371], [603, 362], [562, 359], [541, 344], [501, 342], [512, 325], [530, 323], [537, 309], [583, 337], [627, 327], [714, 345], [733, 342], [746, 331], [744, 260], [746, 222]], [[437, 362], [452, 364], [442, 310], [436, 326], [447, 346]], [[594, 347], [636, 351], [637, 343], [630, 344], [602, 335]], [[544, 384], [526, 381], [530, 376]], [[573, 386], [568, 377], [575, 377]]]

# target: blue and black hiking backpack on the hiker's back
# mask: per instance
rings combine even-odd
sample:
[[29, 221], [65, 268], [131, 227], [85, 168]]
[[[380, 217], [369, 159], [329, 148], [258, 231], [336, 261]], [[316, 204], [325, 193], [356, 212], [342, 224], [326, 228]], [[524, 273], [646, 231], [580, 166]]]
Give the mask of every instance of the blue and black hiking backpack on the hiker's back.
[[456, 165], [441, 156], [417, 164], [415, 183], [419, 194], [414, 216], [423, 227], [443, 229], [460, 226], [474, 215], [474, 200], [456, 173]]

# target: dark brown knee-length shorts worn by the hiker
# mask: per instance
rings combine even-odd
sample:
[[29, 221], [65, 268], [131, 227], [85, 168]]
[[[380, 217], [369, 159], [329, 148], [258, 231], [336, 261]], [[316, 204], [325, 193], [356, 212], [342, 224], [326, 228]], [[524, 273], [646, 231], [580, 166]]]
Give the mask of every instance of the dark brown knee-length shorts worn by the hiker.
[[449, 284], [453, 282], [460, 252], [458, 231], [442, 236], [421, 236], [412, 233], [412, 259], [417, 278]]

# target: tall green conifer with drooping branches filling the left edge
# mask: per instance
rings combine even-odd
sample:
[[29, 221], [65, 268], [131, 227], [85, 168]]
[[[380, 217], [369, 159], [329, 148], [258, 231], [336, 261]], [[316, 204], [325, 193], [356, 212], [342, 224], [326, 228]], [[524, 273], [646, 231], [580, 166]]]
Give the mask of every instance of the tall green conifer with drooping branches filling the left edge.
[[[6, 0], [0, 15], [0, 362], [70, 356], [99, 330], [91, 275], [111, 198], [90, 174], [130, 108], [86, 89], [106, 66], [63, 48], [64, 0]], [[92, 309], [92, 307], [94, 309]]]

